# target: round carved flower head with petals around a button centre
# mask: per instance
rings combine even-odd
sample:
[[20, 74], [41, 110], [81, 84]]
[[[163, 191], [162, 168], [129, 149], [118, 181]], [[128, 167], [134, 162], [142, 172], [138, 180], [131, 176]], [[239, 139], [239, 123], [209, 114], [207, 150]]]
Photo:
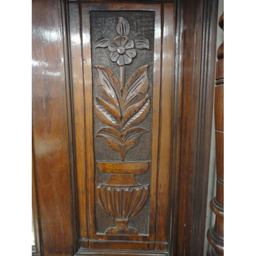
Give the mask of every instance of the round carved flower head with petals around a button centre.
[[130, 64], [132, 58], [136, 56], [133, 40], [129, 40], [127, 36], [117, 36], [114, 42], [109, 44], [109, 50], [111, 51], [110, 59], [117, 62], [119, 66]]

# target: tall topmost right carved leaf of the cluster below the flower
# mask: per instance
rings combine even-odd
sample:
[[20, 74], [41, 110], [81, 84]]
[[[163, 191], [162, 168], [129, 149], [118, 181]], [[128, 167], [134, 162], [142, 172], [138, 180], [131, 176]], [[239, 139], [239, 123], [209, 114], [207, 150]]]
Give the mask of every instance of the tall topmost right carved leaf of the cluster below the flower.
[[125, 108], [141, 101], [147, 93], [149, 82], [147, 78], [147, 67], [138, 69], [127, 82], [123, 90]]

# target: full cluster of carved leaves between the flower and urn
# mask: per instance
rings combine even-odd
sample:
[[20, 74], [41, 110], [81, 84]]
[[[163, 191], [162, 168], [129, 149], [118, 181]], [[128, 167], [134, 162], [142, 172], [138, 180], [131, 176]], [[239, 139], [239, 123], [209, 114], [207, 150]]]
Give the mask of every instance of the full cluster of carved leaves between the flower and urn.
[[139, 143], [143, 133], [141, 127], [134, 127], [150, 111], [150, 97], [147, 94], [149, 81], [147, 66], [138, 69], [127, 82], [123, 91], [113, 72], [96, 66], [99, 72], [99, 96], [95, 97], [95, 111], [101, 122], [112, 127], [98, 131], [112, 150], [117, 151], [122, 160], [127, 151]]

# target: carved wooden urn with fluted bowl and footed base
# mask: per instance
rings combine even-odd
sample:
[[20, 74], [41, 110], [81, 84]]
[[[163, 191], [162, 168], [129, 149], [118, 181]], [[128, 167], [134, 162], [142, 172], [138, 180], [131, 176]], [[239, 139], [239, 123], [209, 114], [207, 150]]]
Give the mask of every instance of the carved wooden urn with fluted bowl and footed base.
[[149, 185], [140, 185], [134, 177], [147, 171], [148, 162], [98, 162], [97, 166], [101, 172], [111, 174], [110, 179], [103, 185], [98, 184], [96, 189], [101, 209], [117, 222], [117, 226], [106, 233], [138, 234], [127, 223], [140, 212], [148, 198]]

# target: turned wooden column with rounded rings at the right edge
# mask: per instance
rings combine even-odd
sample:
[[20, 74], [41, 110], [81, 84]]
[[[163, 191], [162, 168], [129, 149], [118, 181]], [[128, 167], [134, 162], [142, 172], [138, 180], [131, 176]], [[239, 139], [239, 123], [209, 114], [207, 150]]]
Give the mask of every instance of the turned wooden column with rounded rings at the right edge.
[[[224, 14], [219, 19], [219, 26], [224, 30]], [[224, 168], [223, 168], [223, 138], [224, 138], [224, 42], [217, 53], [216, 88], [215, 88], [215, 131], [216, 131], [216, 161], [217, 183], [216, 197], [211, 200], [210, 208], [215, 213], [215, 225], [209, 228], [207, 239], [211, 245], [207, 256], [224, 255]]]

